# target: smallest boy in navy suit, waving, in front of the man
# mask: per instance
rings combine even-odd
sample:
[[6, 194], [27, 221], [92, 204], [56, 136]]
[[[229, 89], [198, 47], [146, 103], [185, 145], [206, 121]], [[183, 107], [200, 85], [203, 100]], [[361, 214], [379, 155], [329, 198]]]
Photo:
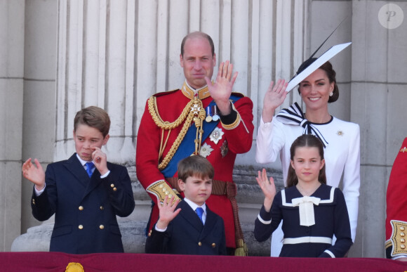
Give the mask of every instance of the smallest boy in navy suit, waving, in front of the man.
[[[184, 200], [165, 197], [159, 206], [159, 220], [150, 231], [146, 253], [225, 255], [223, 219], [205, 201], [212, 192], [214, 170], [200, 155], [178, 163], [178, 187]], [[176, 208], [176, 209], [175, 209]]]

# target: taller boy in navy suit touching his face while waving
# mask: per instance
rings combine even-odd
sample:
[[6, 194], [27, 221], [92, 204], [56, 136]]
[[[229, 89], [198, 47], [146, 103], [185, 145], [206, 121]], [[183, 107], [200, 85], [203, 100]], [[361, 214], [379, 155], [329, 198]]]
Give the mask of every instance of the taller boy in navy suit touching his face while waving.
[[105, 110], [88, 107], [76, 113], [76, 153], [48, 164], [46, 172], [29, 158], [23, 176], [34, 183], [32, 214], [45, 221], [55, 214], [51, 252], [87, 254], [124, 252], [116, 215], [128, 216], [135, 203], [126, 167], [107, 162], [100, 148], [109, 140]]

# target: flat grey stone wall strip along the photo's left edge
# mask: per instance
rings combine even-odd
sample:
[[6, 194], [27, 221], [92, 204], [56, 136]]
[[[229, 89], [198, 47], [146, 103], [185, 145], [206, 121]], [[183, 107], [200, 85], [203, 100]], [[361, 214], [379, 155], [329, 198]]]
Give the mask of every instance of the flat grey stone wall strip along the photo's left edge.
[[0, 251], [20, 235], [25, 1], [0, 1]]

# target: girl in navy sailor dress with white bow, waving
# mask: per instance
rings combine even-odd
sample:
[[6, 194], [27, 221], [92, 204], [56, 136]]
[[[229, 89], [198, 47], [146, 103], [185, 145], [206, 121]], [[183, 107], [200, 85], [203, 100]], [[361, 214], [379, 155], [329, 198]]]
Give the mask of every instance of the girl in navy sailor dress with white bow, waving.
[[267, 240], [282, 220], [280, 257], [344, 257], [352, 246], [349, 215], [342, 191], [326, 185], [321, 141], [304, 134], [290, 153], [287, 188], [276, 193], [265, 169], [258, 173], [265, 201], [255, 220], [255, 239]]

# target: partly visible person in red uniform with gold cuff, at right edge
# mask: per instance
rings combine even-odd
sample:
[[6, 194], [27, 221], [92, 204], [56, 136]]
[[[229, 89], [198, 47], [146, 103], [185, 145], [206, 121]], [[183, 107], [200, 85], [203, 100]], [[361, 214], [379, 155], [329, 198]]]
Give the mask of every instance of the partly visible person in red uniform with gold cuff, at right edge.
[[394, 160], [386, 195], [386, 257], [407, 261], [407, 138]]

